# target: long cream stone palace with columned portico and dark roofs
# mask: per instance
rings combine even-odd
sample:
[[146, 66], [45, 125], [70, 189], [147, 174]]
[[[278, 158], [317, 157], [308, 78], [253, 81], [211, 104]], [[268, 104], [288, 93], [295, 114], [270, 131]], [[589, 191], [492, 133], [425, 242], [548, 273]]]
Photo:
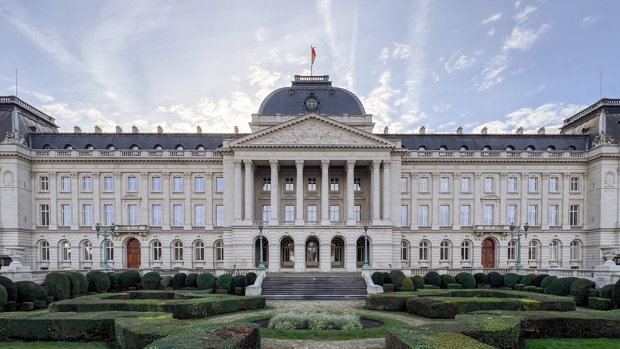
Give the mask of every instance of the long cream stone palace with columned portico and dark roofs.
[[[262, 248], [267, 271], [356, 271], [365, 226], [373, 269], [509, 268], [511, 224], [529, 227], [525, 268], [591, 269], [620, 244], [619, 99], [560, 134], [373, 133], [350, 91], [295, 76], [248, 120], [251, 134], [59, 132], [1, 96], [2, 268], [100, 268], [104, 250], [118, 269], [255, 268]], [[107, 245], [98, 223], [115, 225]]]

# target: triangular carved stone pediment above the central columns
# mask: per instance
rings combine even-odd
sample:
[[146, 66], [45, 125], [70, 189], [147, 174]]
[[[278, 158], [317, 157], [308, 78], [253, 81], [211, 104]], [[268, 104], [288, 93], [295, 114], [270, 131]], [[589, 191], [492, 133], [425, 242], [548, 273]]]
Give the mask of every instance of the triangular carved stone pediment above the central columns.
[[308, 114], [228, 143], [229, 147], [396, 147], [396, 143], [342, 124]]

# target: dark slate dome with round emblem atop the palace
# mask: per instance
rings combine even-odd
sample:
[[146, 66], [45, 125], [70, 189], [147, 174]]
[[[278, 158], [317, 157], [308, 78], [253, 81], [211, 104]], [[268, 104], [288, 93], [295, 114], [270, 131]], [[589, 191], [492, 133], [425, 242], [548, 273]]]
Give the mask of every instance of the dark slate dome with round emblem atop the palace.
[[332, 87], [329, 75], [295, 75], [290, 88], [273, 91], [265, 97], [259, 108], [259, 116], [310, 112], [325, 115], [366, 115], [360, 99], [346, 89]]

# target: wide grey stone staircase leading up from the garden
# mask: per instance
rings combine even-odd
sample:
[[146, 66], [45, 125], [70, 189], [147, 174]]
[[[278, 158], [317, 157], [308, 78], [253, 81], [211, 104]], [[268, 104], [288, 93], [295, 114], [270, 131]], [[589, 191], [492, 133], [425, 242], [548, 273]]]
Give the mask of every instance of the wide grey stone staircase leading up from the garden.
[[361, 276], [334, 275], [271, 275], [262, 283], [262, 296], [267, 301], [363, 301], [366, 283]]

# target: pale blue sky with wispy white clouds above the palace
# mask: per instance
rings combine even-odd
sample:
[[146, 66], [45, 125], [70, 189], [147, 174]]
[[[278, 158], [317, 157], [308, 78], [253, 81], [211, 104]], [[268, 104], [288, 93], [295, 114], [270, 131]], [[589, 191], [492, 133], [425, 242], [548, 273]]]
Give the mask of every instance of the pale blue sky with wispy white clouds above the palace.
[[61, 132], [249, 132], [294, 75], [358, 96], [374, 132], [559, 132], [620, 97], [618, 1], [6, 1], [0, 95]]

